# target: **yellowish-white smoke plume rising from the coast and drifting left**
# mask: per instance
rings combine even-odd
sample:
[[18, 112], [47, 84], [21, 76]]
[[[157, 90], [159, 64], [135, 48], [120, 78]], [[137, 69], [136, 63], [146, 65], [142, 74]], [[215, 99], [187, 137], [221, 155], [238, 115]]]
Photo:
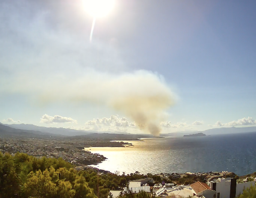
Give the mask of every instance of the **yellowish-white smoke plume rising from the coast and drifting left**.
[[[23, 78], [27, 77], [23, 75]], [[43, 104], [72, 101], [105, 105], [123, 113], [134, 120], [141, 130], [154, 136], [159, 136], [159, 124], [164, 119], [165, 110], [174, 101], [163, 79], [148, 71], [119, 75], [90, 71], [86, 75], [78, 75], [76, 80], [60, 75], [31, 79], [37, 84], [19, 80], [23, 83], [16, 82], [16, 86], [12, 87], [14, 92], [30, 91], [33, 95], [37, 94]]]

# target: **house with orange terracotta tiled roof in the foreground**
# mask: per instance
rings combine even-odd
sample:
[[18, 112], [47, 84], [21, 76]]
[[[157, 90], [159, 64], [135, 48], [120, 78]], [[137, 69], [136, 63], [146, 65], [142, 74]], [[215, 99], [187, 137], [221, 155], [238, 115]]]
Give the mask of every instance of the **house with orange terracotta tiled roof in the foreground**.
[[190, 185], [190, 187], [195, 191], [195, 194], [197, 196], [204, 196], [206, 198], [215, 198], [216, 197], [216, 191], [213, 189], [210, 189], [210, 186], [206, 183], [197, 181]]

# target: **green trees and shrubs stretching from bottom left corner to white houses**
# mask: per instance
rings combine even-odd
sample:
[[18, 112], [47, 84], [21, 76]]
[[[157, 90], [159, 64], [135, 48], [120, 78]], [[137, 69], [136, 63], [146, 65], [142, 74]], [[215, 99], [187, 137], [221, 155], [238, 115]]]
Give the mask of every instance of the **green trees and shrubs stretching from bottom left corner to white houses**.
[[[90, 168], [76, 171], [61, 158], [38, 159], [24, 153], [12, 156], [0, 152], [0, 198], [107, 198], [110, 189], [122, 189], [129, 180], [144, 177], [147, 175], [139, 172], [125, 175], [124, 172], [101, 174]], [[143, 192], [130, 195], [148, 197]]]

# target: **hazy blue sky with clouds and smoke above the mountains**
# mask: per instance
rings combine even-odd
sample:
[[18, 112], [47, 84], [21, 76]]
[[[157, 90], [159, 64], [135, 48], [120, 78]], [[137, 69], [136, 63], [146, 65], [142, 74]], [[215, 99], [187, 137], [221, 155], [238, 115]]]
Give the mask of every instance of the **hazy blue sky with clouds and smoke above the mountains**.
[[3, 0], [0, 122], [129, 133], [253, 126], [255, 9], [116, 0], [90, 41], [83, 0]]

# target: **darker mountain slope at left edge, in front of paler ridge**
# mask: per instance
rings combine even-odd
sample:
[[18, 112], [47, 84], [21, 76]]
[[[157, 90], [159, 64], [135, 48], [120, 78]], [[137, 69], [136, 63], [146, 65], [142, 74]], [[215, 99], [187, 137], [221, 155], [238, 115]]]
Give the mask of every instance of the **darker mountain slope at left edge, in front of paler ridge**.
[[23, 136], [23, 137], [30, 137], [30, 138], [40, 138], [40, 137], [50, 137], [56, 136], [54, 134], [49, 133], [42, 133], [41, 131], [36, 130], [23, 130], [23, 129], [16, 129], [12, 128], [3, 124], [0, 124], [0, 136]]

